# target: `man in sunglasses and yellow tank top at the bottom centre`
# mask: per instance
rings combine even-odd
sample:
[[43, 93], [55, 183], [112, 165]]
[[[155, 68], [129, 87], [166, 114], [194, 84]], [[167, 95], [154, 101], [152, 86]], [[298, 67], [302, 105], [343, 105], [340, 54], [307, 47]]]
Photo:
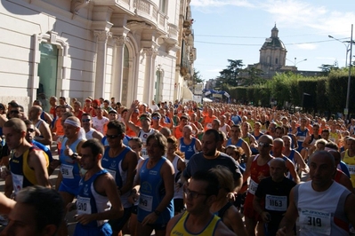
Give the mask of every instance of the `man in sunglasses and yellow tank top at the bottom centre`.
[[189, 185], [184, 185], [186, 211], [174, 216], [166, 226], [169, 235], [235, 235], [210, 207], [217, 199], [218, 178], [207, 170], [196, 172]]

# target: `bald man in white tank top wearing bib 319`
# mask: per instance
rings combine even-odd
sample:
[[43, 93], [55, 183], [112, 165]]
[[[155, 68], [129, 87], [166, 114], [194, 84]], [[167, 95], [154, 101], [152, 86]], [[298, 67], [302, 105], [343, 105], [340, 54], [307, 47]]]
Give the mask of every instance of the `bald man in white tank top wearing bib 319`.
[[292, 232], [297, 217], [301, 236], [349, 235], [349, 224], [355, 225], [355, 195], [333, 180], [334, 157], [319, 151], [311, 155], [309, 165], [311, 181], [292, 189], [277, 235]]

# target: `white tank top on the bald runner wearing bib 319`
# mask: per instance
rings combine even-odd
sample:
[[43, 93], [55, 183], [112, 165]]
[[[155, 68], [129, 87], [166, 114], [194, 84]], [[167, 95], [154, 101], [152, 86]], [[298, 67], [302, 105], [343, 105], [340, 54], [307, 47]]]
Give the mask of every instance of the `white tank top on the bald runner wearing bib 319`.
[[349, 221], [345, 216], [344, 204], [351, 192], [335, 181], [326, 191], [316, 192], [311, 182], [294, 187], [300, 235], [349, 235]]

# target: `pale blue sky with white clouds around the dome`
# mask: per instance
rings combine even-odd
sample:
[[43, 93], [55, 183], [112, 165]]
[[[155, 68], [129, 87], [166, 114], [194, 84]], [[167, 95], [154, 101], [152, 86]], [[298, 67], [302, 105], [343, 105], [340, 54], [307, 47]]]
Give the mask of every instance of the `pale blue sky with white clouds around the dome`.
[[354, 0], [191, 0], [190, 5], [194, 65], [205, 81], [220, 75], [227, 59], [258, 63], [259, 50], [275, 24], [286, 46], [286, 66], [311, 71], [319, 71], [322, 64], [345, 66], [348, 43], [328, 35], [350, 41]]

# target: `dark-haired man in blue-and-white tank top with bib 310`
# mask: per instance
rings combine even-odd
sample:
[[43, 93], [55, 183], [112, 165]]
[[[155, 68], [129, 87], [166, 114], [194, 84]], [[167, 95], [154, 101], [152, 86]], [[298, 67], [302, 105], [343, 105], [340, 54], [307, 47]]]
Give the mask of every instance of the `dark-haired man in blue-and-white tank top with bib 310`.
[[[104, 148], [97, 139], [81, 146], [80, 163], [86, 170], [77, 194], [77, 226], [74, 235], [112, 235], [109, 219], [123, 216], [115, 179], [101, 167]], [[72, 206], [73, 207], [73, 206]]]

